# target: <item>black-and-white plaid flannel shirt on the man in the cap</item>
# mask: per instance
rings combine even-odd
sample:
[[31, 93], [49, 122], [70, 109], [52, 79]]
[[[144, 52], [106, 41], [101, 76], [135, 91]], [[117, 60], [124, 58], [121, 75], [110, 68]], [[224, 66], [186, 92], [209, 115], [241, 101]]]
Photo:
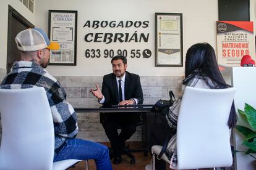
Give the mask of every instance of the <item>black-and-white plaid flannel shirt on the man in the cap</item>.
[[74, 138], [78, 132], [74, 108], [66, 101], [66, 92], [59, 81], [34, 60], [15, 62], [0, 84], [1, 89], [26, 89], [44, 87], [54, 122], [54, 149], [64, 145], [67, 138]]

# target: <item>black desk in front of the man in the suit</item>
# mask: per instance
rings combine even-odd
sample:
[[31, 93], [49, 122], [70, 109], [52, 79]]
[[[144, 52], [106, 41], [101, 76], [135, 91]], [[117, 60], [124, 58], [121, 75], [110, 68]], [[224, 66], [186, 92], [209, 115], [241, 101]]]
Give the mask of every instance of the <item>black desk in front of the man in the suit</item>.
[[153, 124], [153, 116], [150, 110], [153, 105], [111, 105], [109, 107], [100, 108], [75, 108], [77, 113], [130, 113], [139, 112], [142, 113], [143, 125], [142, 125], [142, 144], [143, 147], [148, 147], [148, 139], [150, 136], [150, 126]]

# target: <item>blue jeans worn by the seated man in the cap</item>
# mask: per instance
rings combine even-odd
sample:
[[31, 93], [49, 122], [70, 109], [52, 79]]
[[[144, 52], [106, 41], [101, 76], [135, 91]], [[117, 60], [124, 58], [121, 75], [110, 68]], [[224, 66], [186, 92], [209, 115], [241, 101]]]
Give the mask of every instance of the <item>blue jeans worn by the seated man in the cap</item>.
[[54, 162], [61, 160], [95, 160], [98, 170], [112, 169], [109, 160], [108, 147], [105, 145], [82, 139], [67, 139], [66, 145], [58, 155], [54, 155]]

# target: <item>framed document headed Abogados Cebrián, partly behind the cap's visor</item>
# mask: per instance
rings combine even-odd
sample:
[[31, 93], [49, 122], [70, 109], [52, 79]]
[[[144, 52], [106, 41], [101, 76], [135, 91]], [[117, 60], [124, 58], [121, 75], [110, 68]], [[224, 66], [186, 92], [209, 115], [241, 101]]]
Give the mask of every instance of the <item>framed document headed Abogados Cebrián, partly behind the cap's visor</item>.
[[77, 65], [77, 10], [49, 10], [50, 41], [59, 43], [51, 50], [49, 65]]

